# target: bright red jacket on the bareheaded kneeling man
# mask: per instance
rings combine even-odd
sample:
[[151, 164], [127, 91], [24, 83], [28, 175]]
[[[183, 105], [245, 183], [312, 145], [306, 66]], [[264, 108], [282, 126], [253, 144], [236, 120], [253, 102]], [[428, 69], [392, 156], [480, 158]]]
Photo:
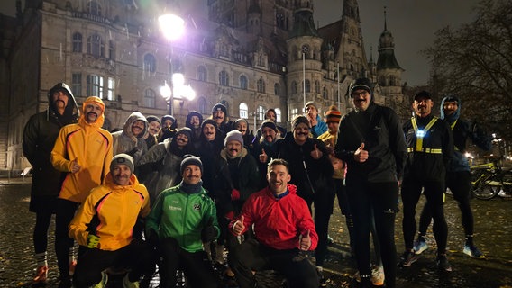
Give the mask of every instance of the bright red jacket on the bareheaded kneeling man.
[[267, 247], [277, 250], [297, 249], [299, 236], [306, 235], [307, 231], [311, 238], [309, 250], [315, 250], [318, 244], [315, 223], [306, 202], [297, 196], [295, 185], [288, 184], [288, 195], [279, 199], [269, 187], [251, 194], [238, 219], [229, 224], [230, 230], [233, 231], [233, 224], [241, 216], [245, 228], [254, 225], [256, 238]]

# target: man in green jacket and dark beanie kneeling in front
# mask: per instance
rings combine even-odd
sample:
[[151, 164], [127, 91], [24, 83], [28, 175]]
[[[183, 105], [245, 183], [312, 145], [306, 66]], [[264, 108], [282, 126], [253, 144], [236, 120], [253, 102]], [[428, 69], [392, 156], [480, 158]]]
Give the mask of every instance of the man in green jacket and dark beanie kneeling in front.
[[203, 243], [218, 237], [215, 203], [203, 188], [203, 164], [186, 156], [180, 166], [183, 180], [162, 191], [146, 222], [146, 239], [163, 258], [160, 287], [176, 287], [178, 268], [191, 288], [215, 288], [217, 280]]

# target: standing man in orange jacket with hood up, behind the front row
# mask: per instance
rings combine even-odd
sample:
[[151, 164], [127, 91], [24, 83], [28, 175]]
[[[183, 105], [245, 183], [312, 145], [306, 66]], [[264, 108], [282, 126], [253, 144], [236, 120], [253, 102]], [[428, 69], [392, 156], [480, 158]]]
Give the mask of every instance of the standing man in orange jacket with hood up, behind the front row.
[[112, 159], [112, 136], [102, 129], [105, 104], [91, 96], [82, 105], [78, 124], [64, 126], [59, 131], [51, 151], [51, 164], [67, 172], [57, 202], [55, 218], [55, 252], [59, 265], [59, 288], [71, 287], [73, 274], [73, 239], [68, 225], [78, 205], [84, 202], [91, 189], [103, 183]]

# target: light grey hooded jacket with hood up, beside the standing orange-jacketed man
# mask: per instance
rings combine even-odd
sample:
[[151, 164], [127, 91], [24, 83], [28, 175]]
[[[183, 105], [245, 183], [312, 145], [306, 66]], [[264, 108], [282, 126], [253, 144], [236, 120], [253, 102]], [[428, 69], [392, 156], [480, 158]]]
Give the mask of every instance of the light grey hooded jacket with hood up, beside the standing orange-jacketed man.
[[[144, 122], [144, 129], [135, 137], [132, 132], [133, 123], [135, 121]], [[141, 160], [142, 155], [148, 151], [148, 145], [144, 139], [144, 135], [148, 131], [148, 121], [141, 112], [133, 112], [128, 119], [124, 121], [122, 131], [112, 133], [114, 140], [112, 146], [112, 154], [115, 156], [120, 153], [126, 153], [133, 157], [133, 164], [136, 166]]]

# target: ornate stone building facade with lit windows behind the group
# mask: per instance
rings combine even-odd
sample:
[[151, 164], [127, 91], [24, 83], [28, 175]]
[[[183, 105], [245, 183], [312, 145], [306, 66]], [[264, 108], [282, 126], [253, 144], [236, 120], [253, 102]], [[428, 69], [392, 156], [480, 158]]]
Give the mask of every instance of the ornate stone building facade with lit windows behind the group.
[[160, 87], [171, 71], [183, 73], [196, 91], [193, 101], [175, 97], [178, 126], [192, 110], [208, 117], [215, 103], [224, 103], [232, 119], [247, 118], [251, 129], [269, 108], [287, 126], [307, 101], [322, 113], [332, 104], [346, 112], [347, 87], [360, 76], [376, 83], [378, 103], [401, 95], [398, 63], [379, 66], [366, 58], [356, 0], [343, 1], [342, 18], [318, 29], [311, 0], [207, 0], [207, 15], [184, 13], [185, 36], [172, 42], [163, 38], [158, 17], [183, 13], [182, 1], [16, 2], [15, 18], [0, 15], [9, 23], [0, 28], [0, 101], [8, 107], [0, 119], [0, 170], [29, 166], [24, 124], [47, 108], [46, 94], [58, 82], [72, 88], [78, 103], [89, 95], [104, 99], [107, 130], [122, 128], [133, 111], [169, 113]]

